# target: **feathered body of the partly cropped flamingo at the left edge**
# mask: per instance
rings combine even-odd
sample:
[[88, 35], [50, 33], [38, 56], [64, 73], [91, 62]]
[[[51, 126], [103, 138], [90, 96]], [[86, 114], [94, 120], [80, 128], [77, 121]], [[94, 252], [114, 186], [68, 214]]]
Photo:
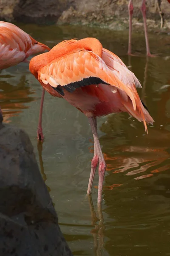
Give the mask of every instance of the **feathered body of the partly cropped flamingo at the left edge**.
[[[14, 24], [0, 21], [0, 70], [20, 62], [29, 63], [27, 60], [29, 55], [45, 50], [50, 51], [50, 48], [36, 41]], [[45, 91], [42, 92], [42, 97], [44, 93]], [[2, 113], [1, 109], [0, 113]]]

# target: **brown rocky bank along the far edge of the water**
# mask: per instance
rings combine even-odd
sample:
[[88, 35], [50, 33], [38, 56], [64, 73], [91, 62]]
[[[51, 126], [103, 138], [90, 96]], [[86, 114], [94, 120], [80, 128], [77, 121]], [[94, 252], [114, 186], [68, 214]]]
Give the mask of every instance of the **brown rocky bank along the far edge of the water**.
[[[128, 28], [128, 0], [3, 0], [0, 19], [24, 23], [84, 24], [122, 30]], [[133, 27], [142, 27], [140, 6], [142, 0], [133, 1]], [[170, 4], [167, 0], [147, 1], [147, 25], [159, 28], [160, 9], [164, 28], [170, 29]]]

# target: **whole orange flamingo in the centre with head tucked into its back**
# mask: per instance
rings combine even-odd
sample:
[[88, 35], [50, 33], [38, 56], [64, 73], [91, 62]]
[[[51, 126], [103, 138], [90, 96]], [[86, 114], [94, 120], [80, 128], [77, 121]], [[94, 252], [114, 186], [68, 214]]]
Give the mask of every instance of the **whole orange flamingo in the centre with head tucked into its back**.
[[106, 163], [96, 117], [127, 112], [143, 121], [147, 131], [146, 123], [153, 124], [153, 119], [136, 91], [141, 84], [122, 60], [103, 48], [96, 38], [63, 41], [50, 52], [33, 57], [29, 70], [48, 93], [67, 100], [88, 117], [94, 137], [94, 157], [87, 194], [91, 193], [99, 164], [97, 201], [100, 204]]

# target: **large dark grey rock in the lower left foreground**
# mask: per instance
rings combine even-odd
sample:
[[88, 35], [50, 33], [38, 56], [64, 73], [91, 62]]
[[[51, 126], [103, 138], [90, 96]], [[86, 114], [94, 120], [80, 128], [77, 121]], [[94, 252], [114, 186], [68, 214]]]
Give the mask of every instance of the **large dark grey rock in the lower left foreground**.
[[0, 255], [71, 256], [28, 135], [0, 127]]

